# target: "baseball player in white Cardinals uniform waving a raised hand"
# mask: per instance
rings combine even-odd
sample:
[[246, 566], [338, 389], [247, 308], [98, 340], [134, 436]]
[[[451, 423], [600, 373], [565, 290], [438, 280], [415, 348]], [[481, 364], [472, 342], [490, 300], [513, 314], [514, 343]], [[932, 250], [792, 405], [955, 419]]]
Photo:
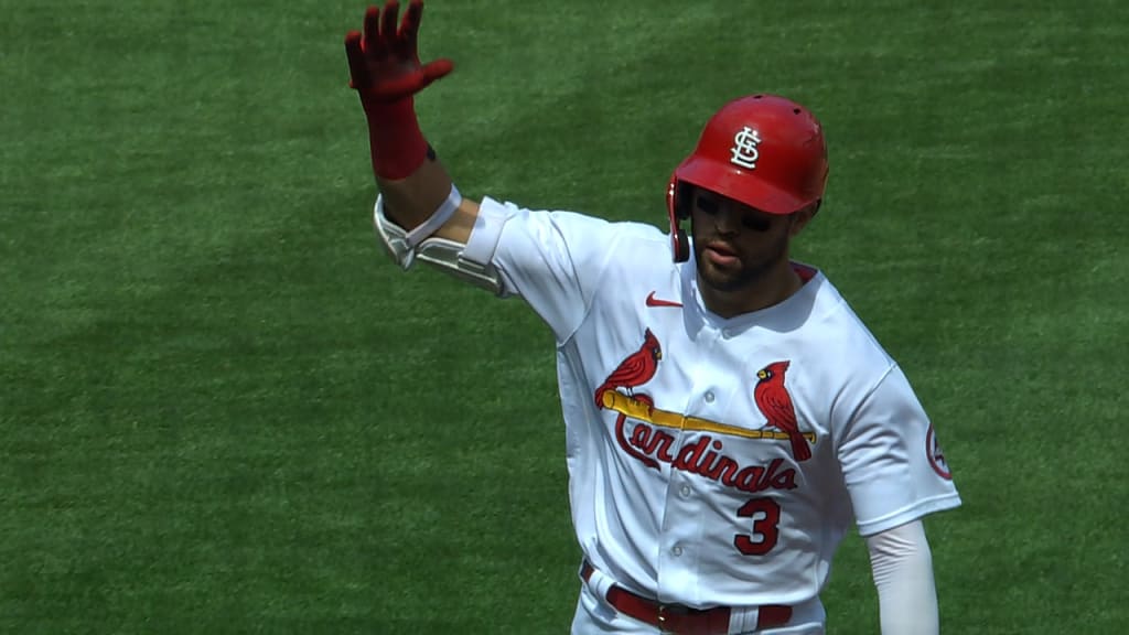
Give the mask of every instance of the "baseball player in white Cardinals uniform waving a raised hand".
[[520, 297], [555, 336], [584, 554], [572, 633], [824, 633], [854, 523], [882, 633], [936, 634], [921, 517], [961, 504], [936, 432], [823, 272], [789, 259], [823, 200], [816, 118], [774, 95], [724, 105], [674, 169], [668, 234], [474, 202], [415, 120], [413, 95], [453, 68], [420, 62], [421, 15], [390, 0], [345, 37], [376, 228], [404, 269]]

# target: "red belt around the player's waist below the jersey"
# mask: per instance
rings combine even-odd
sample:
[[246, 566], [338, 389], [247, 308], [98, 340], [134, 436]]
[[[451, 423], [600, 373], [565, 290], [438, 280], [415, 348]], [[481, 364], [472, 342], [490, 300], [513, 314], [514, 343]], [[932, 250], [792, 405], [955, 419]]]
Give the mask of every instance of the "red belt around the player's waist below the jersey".
[[[588, 560], [584, 560], [580, 576], [587, 582], [595, 572]], [[657, 600], [632, 593], [612, 584], [607, 590], [607, 603], [621, 614], [658, 627], [663, 633], [677, 635], [726, 635], [729, 633], [729, 607], [692, 609], [682, 604], [664, 604]], [[784, 626], [791, 619], [791, 607], [763, 604], [756, 614], [756, 630]]]

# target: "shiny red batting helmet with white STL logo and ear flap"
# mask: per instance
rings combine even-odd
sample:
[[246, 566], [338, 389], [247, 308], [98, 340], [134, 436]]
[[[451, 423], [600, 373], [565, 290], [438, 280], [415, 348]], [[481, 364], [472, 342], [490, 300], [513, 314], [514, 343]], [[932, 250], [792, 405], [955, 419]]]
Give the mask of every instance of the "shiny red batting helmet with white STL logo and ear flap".
[[729, 102], [710, 118], [693, 154], [671, 175], [666, 205], [675, 261], [690, 258], [679, 228], [690, 218], [685, 185], [784, 215], [822, 201], [826, 182], [823, 127], [807, 108], [777, 95]]

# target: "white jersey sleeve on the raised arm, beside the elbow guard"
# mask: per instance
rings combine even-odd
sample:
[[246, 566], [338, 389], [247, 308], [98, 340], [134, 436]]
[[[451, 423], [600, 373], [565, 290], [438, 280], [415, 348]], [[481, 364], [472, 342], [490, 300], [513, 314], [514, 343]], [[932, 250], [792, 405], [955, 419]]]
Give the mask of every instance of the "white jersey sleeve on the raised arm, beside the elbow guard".
[[584, 320], [616, 240], [599, 218], [485, 198], [464, 256], [493, 266], [501, 295], [525, 299], [563, 342]]

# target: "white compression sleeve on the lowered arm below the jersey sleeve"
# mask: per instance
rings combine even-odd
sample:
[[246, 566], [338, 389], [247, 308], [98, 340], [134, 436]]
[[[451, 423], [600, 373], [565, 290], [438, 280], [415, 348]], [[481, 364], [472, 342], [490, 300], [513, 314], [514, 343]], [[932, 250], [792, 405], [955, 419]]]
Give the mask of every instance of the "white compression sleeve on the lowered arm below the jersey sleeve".
[[938, 635], [933, 555], [920, 520], [868, 536], [882, 635]]

